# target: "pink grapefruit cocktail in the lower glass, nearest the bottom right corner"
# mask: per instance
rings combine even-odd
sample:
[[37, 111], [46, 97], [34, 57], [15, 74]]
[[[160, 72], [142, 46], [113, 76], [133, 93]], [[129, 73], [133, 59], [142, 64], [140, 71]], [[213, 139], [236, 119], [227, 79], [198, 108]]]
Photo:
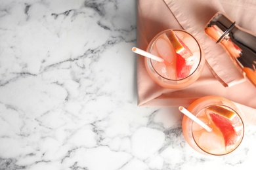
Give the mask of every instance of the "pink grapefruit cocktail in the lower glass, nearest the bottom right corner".
[[182, 131], [188, 144], [202, 154], [225, 155], [235, 150], [244, 137], [244, 123], [240, 111], [228, 99], [219, 96], [202, 97], [188, 110], [202, 120], [212, 131], [183, 117]]

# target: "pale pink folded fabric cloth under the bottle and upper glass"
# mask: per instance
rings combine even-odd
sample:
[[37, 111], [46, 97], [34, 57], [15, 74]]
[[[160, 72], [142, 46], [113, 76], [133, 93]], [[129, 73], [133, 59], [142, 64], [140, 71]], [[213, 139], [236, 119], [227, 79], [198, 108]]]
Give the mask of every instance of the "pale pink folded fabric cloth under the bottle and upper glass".
[[[138, 105], [187, 107], [192, 101], [205, 95], [221, 95], [240, 107], [247, 122], [256, 124], [255, 86], [234, 67], [224, 48], [220, 44], [215, 44], [204, 32], [207, 22], [219, 11], [228, 14], [245, 29], [256, 32], [255, 5], [253, 0], [232, 2], [138, 0], [137, 46], [139, 48], [146, 50], [148, 43], [160, 31], [170, 28], [185, 29], [201, 42], [207, 61], [202, 75], [194, 84], [182, 90], [171, 90], [158, 86], [146, 72], [144, 58], [138, 57]], [[238, 12], [244, 9], [246, 12], [240, 12], [238, 15]]]

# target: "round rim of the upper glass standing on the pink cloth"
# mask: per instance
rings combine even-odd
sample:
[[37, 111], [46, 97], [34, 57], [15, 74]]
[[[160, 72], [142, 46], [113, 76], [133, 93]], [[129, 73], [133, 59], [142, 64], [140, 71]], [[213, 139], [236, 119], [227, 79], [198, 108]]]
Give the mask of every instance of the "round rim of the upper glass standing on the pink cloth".
[[194, 73], [196, 73], [196, 71], [198, 71], [198, 67], [200, 66], [200, 64], [202, 63], [202, 49], [201, 49], [201, 46], [200, 46], [200, 43], [198, 42], [198, 40], [191, 34], [191, 33], [188, 33], [187, 31], [183, 30], [183, 29], [166, 29], [164, 31], [161, 31], [160, 33], [158, 33], [154, 39], [152, 39], [152, 41], [150, 41], [150, 46], [148, 48], [148, 52], [152, 50], [152, 46], [154, 44], [154, 42], [156, 42], [156, 39], [158, 39], [158, 37], [160, 37], [160, 35], [162, 35], [163, 33], [167, 32], [167, 31], [170, 31], [170, 30], [173, 30], [173, 31], [182, 31], [188, 35], [190, 35], [190, 37], [192, 37], [196, 43], [198, 44], [198, 48], [200, 50], [200, 61], [198, 62], [198, 65], [196, 67], [196, 69], [193, 71], [193, 73], [191, 73], [190, 75], [184, 77], [184, 78], [180, 78], [180, 79], [170, 79], [170, 78], [166, 78], [165, 76], [162, 76], [160, 75], [160, 73], [158, 73], [158, 71], [156, 71], [156, 69], [154, 68], [154, 65], [152, 64], [152, 59], [148, 58], [148, 60], [150, 61], [150, 65], [151, 67], [154, 69], [155, 73], [157, 73], [159, 76], [161, 76], [161, 78], [164, 78], [165, 80], [170, 80], [170, 81], [173, 81], [173, 82], [177, 82], [177, 81], [181, 81], [181, 80], [184, 80], [186, 78], [189, 78], [190, 76], [194, 75]]

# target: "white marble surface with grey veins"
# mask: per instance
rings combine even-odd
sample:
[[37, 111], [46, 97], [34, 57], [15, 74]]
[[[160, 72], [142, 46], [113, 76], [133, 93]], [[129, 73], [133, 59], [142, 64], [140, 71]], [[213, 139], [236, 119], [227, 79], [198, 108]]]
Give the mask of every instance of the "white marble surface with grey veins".
[[136, 1], [0, 0], [0, 169], [244, 169], [184, 141], [177, 108], [137, 107]]

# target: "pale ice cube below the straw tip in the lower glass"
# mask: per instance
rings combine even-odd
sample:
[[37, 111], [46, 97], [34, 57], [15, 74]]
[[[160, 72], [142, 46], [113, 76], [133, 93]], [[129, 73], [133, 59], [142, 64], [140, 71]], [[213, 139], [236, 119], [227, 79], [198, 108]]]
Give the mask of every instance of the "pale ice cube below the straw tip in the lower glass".
[[199, 137], [198, 145], [211, 154], [224, 154], [226, 152], [223, 137], [214, 131], [203, 132]]

